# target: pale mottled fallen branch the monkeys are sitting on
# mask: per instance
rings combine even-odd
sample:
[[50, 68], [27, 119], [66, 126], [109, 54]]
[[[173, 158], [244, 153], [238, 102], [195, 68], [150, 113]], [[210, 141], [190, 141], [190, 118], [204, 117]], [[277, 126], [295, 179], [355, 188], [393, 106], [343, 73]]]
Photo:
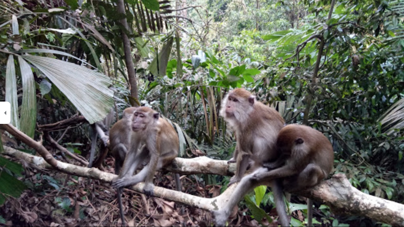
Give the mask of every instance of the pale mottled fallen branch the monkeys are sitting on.
[[[52, 168], [42, 157], [29, 155], [4, 146], [4, 155], [24, 159], [42, 168]], [[234, 163], [231, 163], [234, 164]], [[197, 157], [193, 159], [175, 159], [177, 168], [170, 168], [173, 172], [181, 174], [229, 174], [227, 161]], [[215, 168], [213, 168], [215, 166]], [[115, 174], [98, 170], [97, 168], [86, 168], [57, 161], [57, 169], [67, 174], [88, 177], [104, 182], [111, 182]], [[195, 168], [194, 168], [195, 167]], [[234, 168], [234, 167], [232, 167]], [[188, 206], [195, 206], [204, 210], [217, 210], [223, 206], [232, 195], [236, 184], [231, 185], [221, 195], [214, 198], [203, 198], [187, 193], [154, 187], [154, 195], [164, 199], [183, 203]], [[143, 183], [131, 187], [133, 190], [142, 192]], [[331, 179], [323, 181], [320, 185], [295, 193], [328, 205], [332, 212], [342, 215], [364, 216], [375, 221], [387, 223], [392, 226], [404, 226], [404, 205], [387, 199], [381, 199], [372, 195], [362, 193], [351, 186], [344, 174], [336, 174]]]

